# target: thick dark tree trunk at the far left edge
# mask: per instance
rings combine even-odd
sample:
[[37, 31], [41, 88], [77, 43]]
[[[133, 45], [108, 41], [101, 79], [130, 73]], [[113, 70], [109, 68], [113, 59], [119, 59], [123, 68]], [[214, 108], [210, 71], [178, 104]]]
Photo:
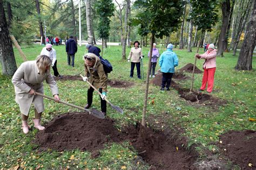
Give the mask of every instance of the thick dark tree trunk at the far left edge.
[[2, 73], [7, 76], [12, 76], [17, 70], [17, 65], [4, 14], [3, 0], [0, 0], [0, 30], [0, 60], [2, 64]]

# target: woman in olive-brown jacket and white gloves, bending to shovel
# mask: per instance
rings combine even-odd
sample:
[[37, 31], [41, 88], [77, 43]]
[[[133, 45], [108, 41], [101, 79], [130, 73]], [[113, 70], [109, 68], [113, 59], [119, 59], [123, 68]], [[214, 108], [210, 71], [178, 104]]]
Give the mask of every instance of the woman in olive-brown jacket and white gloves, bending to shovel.
[[[101, 110], [104, 115], [106, 115], [106, 88], [107, 88], [107, 76], [103, 69], [102, 63], [100, 63], [100, 59], [94, 53], [86, 53], [83, 56], [84, 66], [85, 66], [85, 77], [83, 77], [84, 81], [88, 81], [93, 87], [98, 89], [102, 95], [100, 95], [100, 105]], [[93, 97], [93, 87], [90, 86], [87, 90], [87, 104], [84, 108], [90, 108], [92, 105], [92, 97]]]

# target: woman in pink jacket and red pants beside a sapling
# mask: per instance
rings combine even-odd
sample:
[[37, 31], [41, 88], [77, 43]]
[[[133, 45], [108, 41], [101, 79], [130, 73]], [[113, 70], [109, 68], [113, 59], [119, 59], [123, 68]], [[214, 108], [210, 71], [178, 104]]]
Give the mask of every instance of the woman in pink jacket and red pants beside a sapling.
[[208, 46], [208, 50], [203, 55], [199, 55], [198, 53], [196, 54], [198, 59], [205, 59], [203, 66], [204, 76], [199, 91], [204, 91], [206, 84], [208, 84], [206, 91], [208, 93], [212, 92], [214, 84], [214, 73], [216, 70], [216, 56], [217, 50], [214, 49], [214, 44], [210, 44]]

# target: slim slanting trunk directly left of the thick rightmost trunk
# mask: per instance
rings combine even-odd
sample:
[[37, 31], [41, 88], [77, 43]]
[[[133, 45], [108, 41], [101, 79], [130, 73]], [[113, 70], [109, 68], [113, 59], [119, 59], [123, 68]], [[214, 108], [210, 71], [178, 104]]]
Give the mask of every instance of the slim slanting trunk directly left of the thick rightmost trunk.
[[239, 24], [239, 25], [241, 25], [241, 27], [238, 29], [238, 35], [237, 35], [237, 38], [235, 39], [235, 42], [234, 42], [233, 56], [235, 56], [235, 54], [237, 53], [237, 46], [239, 44], [242, 31], [245, 28], [245, 23], [247, 21], [248, 15], [250, 13], [251, 5], [252, 5], [252, 1], [249, 1], [247, 3], [246, 10], [245, 10], [244, 15], [242, 16], [241, 22]]

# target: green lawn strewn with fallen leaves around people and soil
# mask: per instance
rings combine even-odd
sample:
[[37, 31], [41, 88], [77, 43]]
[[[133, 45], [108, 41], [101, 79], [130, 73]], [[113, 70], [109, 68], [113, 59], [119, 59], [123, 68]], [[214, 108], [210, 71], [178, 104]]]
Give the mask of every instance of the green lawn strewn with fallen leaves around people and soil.
[[[57, 51], [58, 70], [60, 74], [75, 75], [83, 70], [82, 56], [85, 46], [78, 47], [75, 57], [75, 67], [70, 67], [66, 62], [65, 46], [54, 46]], [[15, 50], [16, 63], [19, 66], [23, 60], [17, 49]], [[42, 50], [42, 46], [32, 47], [22, 46], [28, 60], [34, 60]], [[200, 49], [199, 53], [203, 52]], [[143, 48], [144, 56], [147, 56], [149, 47]], [[164, 49], [161, 47], [160, 52]], [[196, 49], [193, 49], [196, 51]], [[127, 55], [130, 49], [127, 49]], [[186, 50], [174, 49], [179, 58], [177, 69], [187, 63], [194, 62], [194, 52], [188, 53]], [[107, 96], [114, 105], [123, 108], [124, 115], [120, 115], [111, 107], [107, 107], [107, 114], [110, 118], [117, 120], [116, 127], [121, 128], [127, 124], [135, 124], [142, 119], [143, 99], [145, 91], [145, 80], [129, 78], [130, 64], [122, 60], [122, 47], [110, 46], [104, 50], [103, 57], [108, 59], [113, 65], [113, 71], [109, 74], [109, 79], [133, 81], [135, 84], [126, 89], [108, 87]], [[256, 130], [255, 123], [248, 121], [248, 118], [255, 118], [255, 71], [235, 71], [237, 57], [232, 53], [224, 53], [225, 57], [217, 58], [217, 70], [215, 72], [215, 84], [213, 96], [226, 100], [226, 106], [220, 106], [217, 110], [201, 105], [194, 107], [178, 96], [176, 90], [162, 92], [159, 87], [150, 85], [149, 97], [155, 98], [155, 104], [147, 106], [147, 116], [154, 117], [158, 121], [159, 117], [166, 119], [166, 124], [170, 128], [183, 128], [184, 134], [188, 137], [188, 146], [197, 144], [197, 151], [204, 155], [205, 149], [218, 152], [218, 148], [213, 142], [218, 141], [218, 135], [230, 130]], [[253, 58], [255, 66], [255, 57]], [[147, 57], [143, 60], [144, 73], [147, 71]], [[197, 67], [201, 69], [203, 60], [197, 62]], [[159, 69], [159, 66], [156, 68]], [[2, 67], [0, 66], [0, 70]], [[136, 71], [135, 71], [136, 74]], [[191, 73], [185, 73], [191, 77]], [[203, 74], [195, 74], [194, 89], [199, 89]], [[136, 75], [134, 75], [136, 77]], [[189, 89], [191, 79], [177, 81], [182, 87]], [[69, 103], [84, 106], [86, 104], [87, 85], [83, 81], [57, 81], [60, 99]], [[148, 165], [137, 161], [136, 151], [127, 142], [123, 144], [112, 144], [100, 151], [100, 157], [92, 159], [89, 152], [78, 150], [65, 152], [36, 152], [32, 140], [35, 138], [37, 130], [24, 135], [21, 130], [21, 118], [19, 107], [15, 103], [14, 86], [11, 84], [11, 77], [0, 74], [0, 167], [11, 168], [20, 167], [36, 168], [38, 165], [43, 168], [147, 168]], [[45, 94], [51, 94], [49, 86], [45, 85]], [[149, 100], [150, 101], [150, 100]], [[45, 99], [45, 112], [43, 113], [43, 124], [65, 112], [77, 111], [75, 108], [54, 103]], [[93, 107], [100, 108], [98, 94], [94, 93]], [[181, 110], [177, 110], [181, 107]], [[167, 117], [164, 117], [166, 115]], [[31, 112], [33, 114], [33, 112]], [[29, 123], [32, 124], [32, 115]], [[163, 127], [165, 128], [165, 127]], [[189, 147], [188, 147], [189, 148]], [[72, 156], [73, 155], [73, 156]], [[74, 159], [70, 159], [74, 157]]]

